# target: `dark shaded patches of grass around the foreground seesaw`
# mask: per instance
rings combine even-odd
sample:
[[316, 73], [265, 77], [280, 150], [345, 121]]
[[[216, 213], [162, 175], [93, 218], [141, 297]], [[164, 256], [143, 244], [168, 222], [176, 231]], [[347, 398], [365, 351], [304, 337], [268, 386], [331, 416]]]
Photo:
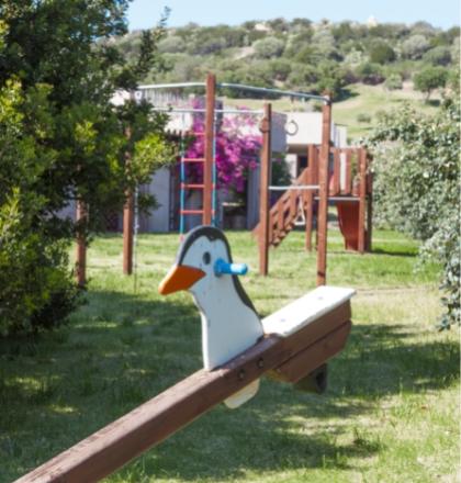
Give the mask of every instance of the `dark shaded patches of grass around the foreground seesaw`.
[[[95, 292], [69, 329], [29, 345], [16, 341], [14, 350], [11, 340], [1, 341], [0, 426], [19, 448], [8, 453], [0, 438], [1, 459], [32, 468], [199, 369], [200, 323], [185, 301]], [[326, 395], [265, 380], [240, 409], [216, 407], [114, 478], [140, 481], [144, 472], [233, 481], [248, 471], [341, 470], [351, 458], [369, 458], [384, 443], [359, 431], [338, 442], [351, 431], [344, 420], [372, 413], [381, 397], [441, 390], [459, 378], [458, 344], [411, 342], [405, 330], [353, 326], [346, 349], [330, 362]], [[27, 378], [37, 383], [24, 384]], [[34, 459], [20, 448], [35, 445], [37, 434], [49, 445]]]

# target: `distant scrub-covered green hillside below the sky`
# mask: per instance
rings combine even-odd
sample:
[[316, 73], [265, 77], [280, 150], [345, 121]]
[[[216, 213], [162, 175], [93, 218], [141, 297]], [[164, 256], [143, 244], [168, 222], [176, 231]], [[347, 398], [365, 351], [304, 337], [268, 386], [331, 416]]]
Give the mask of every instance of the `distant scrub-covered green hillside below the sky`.
[[[116, 38], [127, 59], [137, 50], [140, 32]], [[165, 68], [140, 82], [203, 79], [213, 71], [221, 81], [321, 93], [333, 92], [334, 117], [351, 137], [367, 132], [380, 111], [403, 101], [431, 112], [443, 86], [458, 81], [460, 29], [436, 29], [427, 22], [404, 24], [246, 22], [238, 26], [169, 29], [158, 44]], [[430, 72], [432, 88], [418, 85]], [[416, 80], [416, 82], [415, 82]], [[420, 83], [420, 82], [419, 82]], [[414, 86], [419, 89], [415, 91]], [[251, 105], [250, 99], [231, 103]], [[425, 98], [431, 103], [424, 102]], [[293, 109], [274, 100], [276, 109]]]

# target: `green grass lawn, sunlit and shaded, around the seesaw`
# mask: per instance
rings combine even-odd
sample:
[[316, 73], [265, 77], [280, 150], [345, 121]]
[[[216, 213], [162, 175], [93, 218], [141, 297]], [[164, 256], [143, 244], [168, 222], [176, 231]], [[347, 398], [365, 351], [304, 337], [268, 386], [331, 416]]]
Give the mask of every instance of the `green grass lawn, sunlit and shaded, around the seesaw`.
[[[262, 315], [314, 287], [303, 234], [257, 271], [248, 233], [229, 233]], [[199, 314], [188, 293], [157, 294], [177, 235], [142, 235], [137, 290], [121, 274], [122, 239], [89, 252], [88, 304], [69, 326], [0, 342], [0, 481], [10, 482], [201, 367]], [[374, 252], [345, 252], [329, 236], [330, 284], [349, 285], [353, 327], [329, 363], [325, 395], [263, 380], [237, 411], [220, 405], [108, 482], [459, 481], [459, 330], [435, 329], [437, 268], [415, 271], [417, 245], [374, 234]], [[85, 482], [82, 482], [85, 483]]]

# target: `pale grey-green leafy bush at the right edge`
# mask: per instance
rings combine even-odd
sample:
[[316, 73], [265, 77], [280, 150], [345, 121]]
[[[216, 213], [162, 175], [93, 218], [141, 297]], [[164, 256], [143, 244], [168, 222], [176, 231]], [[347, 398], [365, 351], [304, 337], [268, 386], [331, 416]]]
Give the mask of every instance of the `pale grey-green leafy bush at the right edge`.
[[384, 114], [369, 143], [375, 222], [423, 240], [423, 259], [442, 267], [442, 327], [459, 323], [459, 99], [435, 116], [409, 106]]

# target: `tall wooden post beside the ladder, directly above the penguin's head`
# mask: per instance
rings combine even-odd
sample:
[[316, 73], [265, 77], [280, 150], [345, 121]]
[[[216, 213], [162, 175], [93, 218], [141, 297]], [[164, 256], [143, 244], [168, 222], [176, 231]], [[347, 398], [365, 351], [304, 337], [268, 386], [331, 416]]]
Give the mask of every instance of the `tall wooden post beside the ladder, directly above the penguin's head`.
[[206, 76], [206, 112], [205, 112], [205, 162], [203, 169], [203, 225], [211, 225], [213, 220], [213, 164], [214, 164], [214, 109], [216, 98], [216, 77]]

